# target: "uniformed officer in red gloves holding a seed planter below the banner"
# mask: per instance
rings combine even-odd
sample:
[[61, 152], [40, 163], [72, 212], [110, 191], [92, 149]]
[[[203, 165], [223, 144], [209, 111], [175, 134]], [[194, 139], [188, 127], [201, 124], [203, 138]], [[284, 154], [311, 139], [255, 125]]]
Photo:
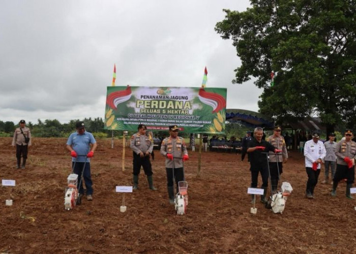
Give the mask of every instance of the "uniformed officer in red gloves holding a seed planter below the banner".
[[[189, 160], [186, 143], [182, 137], [178, 137], [177, 125], [169, 126], [169, 137], [161, 144], [161, 154], [166, 157], [167, 190], [169, 203], [174, 204], [174, 183], [178, 192], [178, 182], [184, 181], [183, 162]], [[173, 176], [174, 174], [174, 176]]]

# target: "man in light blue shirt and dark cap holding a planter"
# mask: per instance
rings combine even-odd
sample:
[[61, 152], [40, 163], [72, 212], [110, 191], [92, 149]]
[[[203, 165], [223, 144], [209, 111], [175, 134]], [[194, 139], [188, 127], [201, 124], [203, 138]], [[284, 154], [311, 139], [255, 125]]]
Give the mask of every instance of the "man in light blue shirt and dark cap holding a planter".
[[[93, 182], [90, 170], [90, 158], [94, 156], [97, 142], [94, 136], [85, 131], [84, 122], [75, 124], [76, 132], [72, 133], [67, 140], [67, 149], [71, 152], [73, 173], [79, 177], [83, 172], [86, 187], [86, 199], [93, 200]], [[92, 147], [91, 147], [92, 144]], [[79, 185], [80, 179], [78, 179]], [[78, 186], [79, 197], [84, 195], [83, 183]]]

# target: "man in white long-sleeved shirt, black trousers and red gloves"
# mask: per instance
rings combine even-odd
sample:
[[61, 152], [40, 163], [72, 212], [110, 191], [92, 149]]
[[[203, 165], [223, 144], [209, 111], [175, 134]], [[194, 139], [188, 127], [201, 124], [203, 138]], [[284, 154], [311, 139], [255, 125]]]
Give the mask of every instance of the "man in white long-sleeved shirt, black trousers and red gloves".
[[318, 183], [320, 165], [327, 151], [324, 144], [319, 140], [319, 134], [314, 133], [311, 140], [304, 146], [305, 168], [308, 175], [306, 197], [314, 199], [314, 188]]

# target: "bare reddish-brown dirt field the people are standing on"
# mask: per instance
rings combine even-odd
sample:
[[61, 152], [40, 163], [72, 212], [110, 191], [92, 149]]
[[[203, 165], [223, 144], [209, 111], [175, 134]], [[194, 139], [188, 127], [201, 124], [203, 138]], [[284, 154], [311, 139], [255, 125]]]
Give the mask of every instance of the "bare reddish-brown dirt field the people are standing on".
[[[169, 205], [164, 157], [156, 150], [153, 192], [141, 171], [139, 190], [122, 194], [116, 185], [131, 185], [132, 152], [122, 142], [97, 140], [92, 160], [94, 200], [64, 209], [64, 190], [71, 172], [66, 139], [34, 138], [25, 170], [15, 169], [10, 138], [0, 139], [0, 178], [16, 180], [0, 188], [0, 252], [5, 253], [356, 253], [356, 206], [339, 184], [336, 198], [330, 185], [319, 183], [315, 199], [304, 197], [307, 175], [304, 156], [290, 152], [282, 179], [293, 192], [283, 214], [257, 203], [250, 213], [247, 194], [249, 165], [234, 153], [189, 151], [185, 175], [189, 188], [187, 214]], [[198, 149], [196, 149], [198, 150]], [[259, 179], [260, 181], [260, 179]], [[13, 200], [6, 206], [5, 200]], [[259, 199], [258, 199], [259, 201]]]

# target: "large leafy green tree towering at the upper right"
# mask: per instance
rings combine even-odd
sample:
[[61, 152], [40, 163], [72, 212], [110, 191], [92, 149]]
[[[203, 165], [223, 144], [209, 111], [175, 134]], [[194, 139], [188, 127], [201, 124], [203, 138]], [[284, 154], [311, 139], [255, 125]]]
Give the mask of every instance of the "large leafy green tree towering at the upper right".
[[244, 12], [224, 10], [215, 27], [242, 61], [232, 82], [256, 77], [260, 112], [277, 122], [319, 115], [327, 132], [341, 121], [355, 126], [355, 1], [250, 2]]

